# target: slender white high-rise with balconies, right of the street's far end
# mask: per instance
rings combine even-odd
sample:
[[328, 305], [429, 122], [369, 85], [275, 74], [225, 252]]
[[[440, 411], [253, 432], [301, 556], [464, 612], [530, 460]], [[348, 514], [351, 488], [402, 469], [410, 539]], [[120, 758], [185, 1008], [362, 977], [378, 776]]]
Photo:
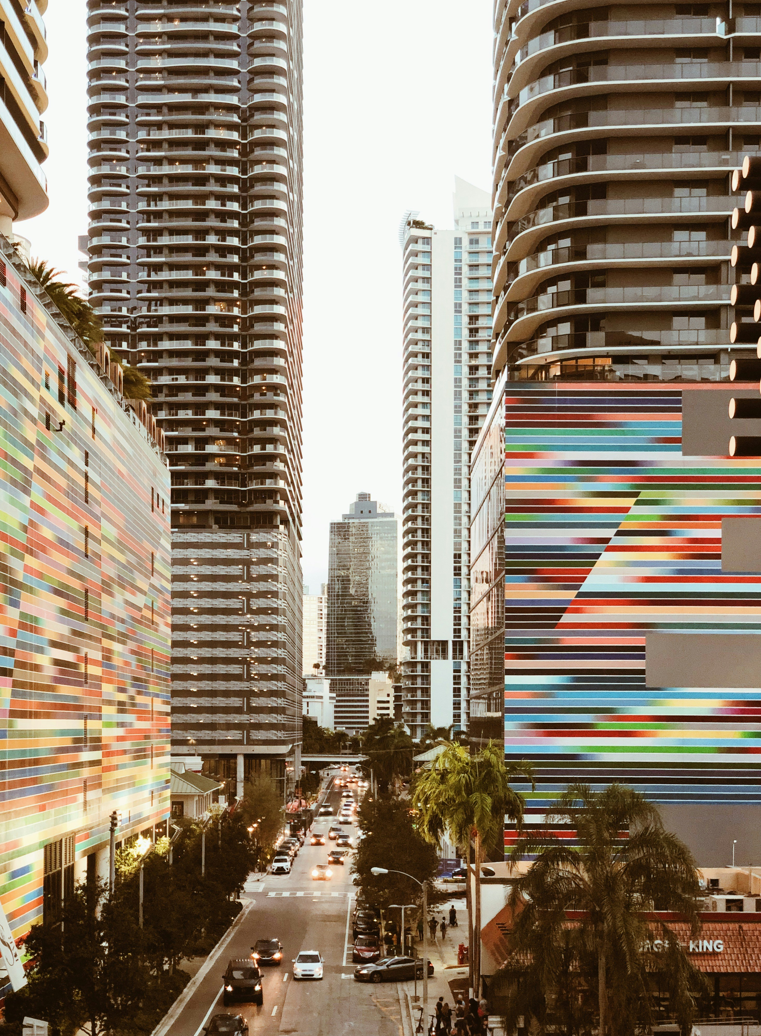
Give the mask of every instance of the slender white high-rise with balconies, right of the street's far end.
[[454, 230], [406, 213], [404, 722], [468, 726], [469, 464], [490, 399], [491, 209], [455, 179]]

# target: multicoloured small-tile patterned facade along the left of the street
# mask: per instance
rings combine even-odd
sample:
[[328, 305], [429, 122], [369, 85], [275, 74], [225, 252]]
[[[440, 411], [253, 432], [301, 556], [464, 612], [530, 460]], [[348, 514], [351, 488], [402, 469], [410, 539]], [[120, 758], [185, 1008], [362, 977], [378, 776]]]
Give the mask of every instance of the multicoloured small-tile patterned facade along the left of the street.
[[112, 810], [119, 839], [168, 817], [170, 491], [145, 427], [0, 259], [0, 902], [19, 938], [47, 844], [107, 874]]

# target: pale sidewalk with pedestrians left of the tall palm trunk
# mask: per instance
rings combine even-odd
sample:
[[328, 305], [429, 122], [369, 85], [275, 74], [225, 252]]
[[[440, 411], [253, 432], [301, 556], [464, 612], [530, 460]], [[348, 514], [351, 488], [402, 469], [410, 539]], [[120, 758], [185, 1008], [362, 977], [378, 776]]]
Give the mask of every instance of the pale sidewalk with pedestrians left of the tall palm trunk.
[[[456, 928], [449, 927], [449, 908], [452, 905], [457, 911], [458, 926]], [[445, 1002], [452, 1008], [457, 1002], [450, 983], [455, 986], [455, 989], [461, 989], [462, 999], [468, 1000], [468, 965], [463, 968], [457, 967], [457, 947], [460, 943], [468, 944], [468, 911], [466, 910], [464, 893], [462, 895], [455, 894], [446, 902], [429, 911], [429, 914], [438, 921], [441, 921], [442, 917], [447, 921], [447, 933], [443, 940], [441, 931], [436, 932], [435, 942], [430, 939], [430, 936], [428, 937], [428, 958], [433, 965], [433, 976], [428, 979], [428, 1014], [431, 1015], [440, 997], [444, 997]], [[422, 956], [422, 940], [417, 942], [416, 939], [415, 948], [418, 956]], [[418, 997], [420, 998], [418, 1004], [413, 1002], [414, 981], [400, 982], [399, 986], [404, 994], [405, 1004], [402, 1006], [406, 1008], [405, 1011], [402, 1011], [404, 1036], [413, 1036], [423, 1004], [423, 982], [421, 979], [418, 980]], [[429, 1023], [430, 1017], [423, 1019], [423, 1033], [427, 1033]]]

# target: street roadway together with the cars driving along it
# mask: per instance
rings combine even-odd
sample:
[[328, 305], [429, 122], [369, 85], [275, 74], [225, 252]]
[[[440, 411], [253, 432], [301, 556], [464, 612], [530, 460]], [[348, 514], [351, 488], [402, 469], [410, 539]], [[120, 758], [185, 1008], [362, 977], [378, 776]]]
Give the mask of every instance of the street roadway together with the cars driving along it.
[[[279, 846], [278, 857], [288, 865], [247, 883], [243, 921], [166, 1036], [203, 1036], [204, 1031], [208, 1036], [336, 1036], [349, 1030], [397, 1036], [396, 986], [372, 979], [365, 984], [355, 976], [357, 890], [350, 863], [358, 828], [351, 807], [364, 788], [356, 783], [337, 787], [336, 780], [345, 776], [331, 777], [319, 800], [323, 809], [315, 810], [304, 844], [297, 848], [283, 841]], [[314, 838], [315, 832], [325, 837]], [[339, 841], [340, 862], [329, 857]], [[357, 936], [361, 951], [367, 940]]]

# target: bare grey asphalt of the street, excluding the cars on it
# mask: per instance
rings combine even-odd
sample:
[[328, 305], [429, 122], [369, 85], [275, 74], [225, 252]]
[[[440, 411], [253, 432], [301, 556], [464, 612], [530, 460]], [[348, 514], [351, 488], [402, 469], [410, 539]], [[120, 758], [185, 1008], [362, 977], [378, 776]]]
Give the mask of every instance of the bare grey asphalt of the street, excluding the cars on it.
[[[355, 797], [356, 788], [353, 787]], [[328, 801], [337, 812], [340, 792], [331, 790]], [[330, 818], [314, 826], [325, 827]], [[356, 831], [357, 829], [354, 828]], [[254, 905], [235, 931], [217, 966], [195, 990], [167, 1036], [200, 1036], [217, 1013], [243, 1014], [250, 1036], [304, 1034], [304, 1036], [400, 1036], [401, 1013], [396, 983], [370, 985], [354, 980], [351, 962], [351, 912], [355, 887], [350, 864], [333, 865], [333, 879], [315, 882], [315, 863], [328, 860], [328, 844], [307, 841], [288, 875], [270, 874], [250, 885], [247, 894]], [[263, 972], [264, 1003], [222, 1004], [222, 974], [230, 958], [248, 957], [257, 939], [278, 938], [284, 958], [280, 967]], [[291, 960], [301, 950], [318, 950], [325, 959], [321, 981], [293, 981]]]

